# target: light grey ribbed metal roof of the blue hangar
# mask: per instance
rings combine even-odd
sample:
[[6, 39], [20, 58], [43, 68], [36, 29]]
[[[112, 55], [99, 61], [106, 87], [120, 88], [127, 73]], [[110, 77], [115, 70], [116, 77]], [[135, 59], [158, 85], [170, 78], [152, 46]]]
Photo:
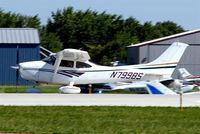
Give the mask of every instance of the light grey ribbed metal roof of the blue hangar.
[[34, 28], [0, 28], [0, 43], [39, 44], [40, 39]]

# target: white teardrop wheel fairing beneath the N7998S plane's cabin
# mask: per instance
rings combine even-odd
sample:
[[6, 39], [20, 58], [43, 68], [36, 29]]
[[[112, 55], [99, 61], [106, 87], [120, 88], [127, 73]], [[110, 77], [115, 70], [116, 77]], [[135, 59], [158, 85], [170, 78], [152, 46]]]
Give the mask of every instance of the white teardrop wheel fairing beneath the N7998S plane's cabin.
[[63, 94], [79, 94], [81, 89], [76, 86], [63, 86], [59, 88], [59, 92]]

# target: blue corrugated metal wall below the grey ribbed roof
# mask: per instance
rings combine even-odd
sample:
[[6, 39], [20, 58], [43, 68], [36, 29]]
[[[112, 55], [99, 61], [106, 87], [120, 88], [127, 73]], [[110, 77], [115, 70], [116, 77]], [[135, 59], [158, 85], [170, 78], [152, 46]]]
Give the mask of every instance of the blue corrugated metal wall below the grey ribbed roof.
[[27, 85], [32, 84], [22, 79], [16, 66], [20, 62], [39, 60], [39, 44], [0, 44], [0, 85]]

